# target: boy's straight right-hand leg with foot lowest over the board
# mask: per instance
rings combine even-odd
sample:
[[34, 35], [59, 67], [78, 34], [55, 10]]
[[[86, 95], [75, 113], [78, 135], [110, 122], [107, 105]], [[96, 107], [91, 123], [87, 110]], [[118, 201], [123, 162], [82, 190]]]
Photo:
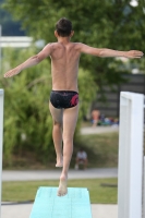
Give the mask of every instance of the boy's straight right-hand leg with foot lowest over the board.
[[63, 111], [63, 168], [60, 177], [58, 195], [68, 193], [68, 171], [73, 153], [73, 135], [78, 116], [78, 105]]

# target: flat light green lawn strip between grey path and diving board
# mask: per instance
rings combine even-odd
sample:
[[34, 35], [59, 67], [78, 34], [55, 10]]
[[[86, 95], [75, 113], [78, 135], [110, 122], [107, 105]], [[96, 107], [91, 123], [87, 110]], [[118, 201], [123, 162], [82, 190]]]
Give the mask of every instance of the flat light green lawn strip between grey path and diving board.
[[[117, 204], [117, 179], [69, 180], [70, 187], [88, 189], [92, 204]], [[102, 184], [114, 184], [114, 186], [104, 186]], [[39, 186], [58, 186], [58, 181], [3, 182], [2, 201], [34, 201]]]

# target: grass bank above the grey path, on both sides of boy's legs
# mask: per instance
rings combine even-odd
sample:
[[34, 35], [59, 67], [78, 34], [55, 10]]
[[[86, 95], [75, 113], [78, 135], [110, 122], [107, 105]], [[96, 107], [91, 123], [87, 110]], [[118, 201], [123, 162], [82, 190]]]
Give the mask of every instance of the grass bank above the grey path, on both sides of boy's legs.
[[[104, 133], [80, 135], [74, 143], [74, 153], [71, 161], [71, 168], [74, 168], [76, 153], [80, 147], [84, 147], [88, 155], [88, 168], [109, 168], [118, 166], [118, 144], [119, 133]], [[23, 153], [23, 157], [14, 157], [12, 166], [3, 165], [3, 169], [53, 169], [56, 165], [56, 155], [45, 165], [34, 157], [33, 150]]]

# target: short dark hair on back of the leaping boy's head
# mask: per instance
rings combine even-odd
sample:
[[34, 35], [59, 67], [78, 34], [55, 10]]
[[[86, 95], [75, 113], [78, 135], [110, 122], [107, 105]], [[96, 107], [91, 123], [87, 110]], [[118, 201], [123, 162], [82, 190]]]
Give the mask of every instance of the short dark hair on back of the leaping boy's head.
[[72, 22], [65, 17], [60, 19], [56, 24], [56, 31], [58, 32], [59, 36], [70, 36], [72, 31]]

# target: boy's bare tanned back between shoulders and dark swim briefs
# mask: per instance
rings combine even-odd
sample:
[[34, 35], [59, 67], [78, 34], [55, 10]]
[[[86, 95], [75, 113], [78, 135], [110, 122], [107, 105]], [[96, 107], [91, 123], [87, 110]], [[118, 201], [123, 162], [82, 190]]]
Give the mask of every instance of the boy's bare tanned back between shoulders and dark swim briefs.
[[78, 44], [51, 44], [51, 75], [53, 90], [77, 90], [80, 61]]

